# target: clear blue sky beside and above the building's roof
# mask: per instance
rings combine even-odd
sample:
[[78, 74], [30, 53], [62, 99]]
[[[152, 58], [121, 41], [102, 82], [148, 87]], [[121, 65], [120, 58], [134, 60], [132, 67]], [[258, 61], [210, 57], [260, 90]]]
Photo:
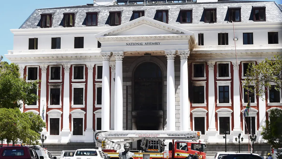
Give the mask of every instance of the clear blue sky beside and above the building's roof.
[[[18, 29], [35, 9], [86, 5], [87, 3], [93, 3], [93, 0], [2, 0], [0, 55], [3, 55], [3, 60], [8, 61], [4, 54], [7, 54], [7, 50], [13, 50], [13, 34], [10, 29]], [[276, 0], [276, 3], [282, 4], [282, 0]]]

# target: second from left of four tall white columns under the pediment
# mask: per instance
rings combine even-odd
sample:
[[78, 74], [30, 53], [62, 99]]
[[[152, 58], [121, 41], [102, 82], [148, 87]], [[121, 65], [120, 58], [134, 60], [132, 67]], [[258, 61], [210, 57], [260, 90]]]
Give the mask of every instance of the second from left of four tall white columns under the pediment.
[[116, 58], [116, 74], [114, 85], [114, 130], [123, 129], [123, 97], [122, 97], [122, 59], [124, 53], [122, 51], [113, 52]]

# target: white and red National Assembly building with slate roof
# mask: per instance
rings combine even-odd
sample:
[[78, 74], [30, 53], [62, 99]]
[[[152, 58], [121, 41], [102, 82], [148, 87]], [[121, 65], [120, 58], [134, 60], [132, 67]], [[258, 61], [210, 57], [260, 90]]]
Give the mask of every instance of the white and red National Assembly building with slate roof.
[[36, 9], [11, 30], [5, 56], [40, 80], [40, 99], [23, 112], [44, 117], [47, 143], [94, 142], [97, 130], [197, 130], [209, 143], [241, 133], [248, 142], [247, 129], [264, 142], [281, 91], [263, 100], [242, 85], [249, 63], [281, 55], [281, 26], [275, 2], [94, 1]]

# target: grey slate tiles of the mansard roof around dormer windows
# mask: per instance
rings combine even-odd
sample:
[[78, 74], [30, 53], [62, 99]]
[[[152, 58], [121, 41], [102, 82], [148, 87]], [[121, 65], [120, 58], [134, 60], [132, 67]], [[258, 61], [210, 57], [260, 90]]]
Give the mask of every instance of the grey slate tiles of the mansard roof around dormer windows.
[[[154, 18], [156, 10], [168, 9], [168, 23], [180, 24], [179, 11], [182, 8], [193, 8], [192, 21], [194, 24], [204, 23], [203, 11], [205, 7], [217, 8], [217, 23], [227, 23], [228, 7], [241, 7], [241, 22], [253, 22], [252, 7], [266, 7], [266, 22], [282, 22], [282, 11], [275, 2], [264, 1], [218, 1], [218, 2], [187, 2], [187, 3], [155, 3], [146, 4], [146, 17]], [[280, 6], [281, 7], [281, 6]], [[144, 10], [144, 4], [111, 5], [111, 6], [93, 6], [93, 4], [82, 6], [69, 6], [58, 8], [36, 9], [30, 17], [23, 23], [20, 29], [40, 28], [40, 18], [43, 13], [54, 13], [52, 27], [63, 27], [63, 13], [76, 12], [75, 26], [86, 27], [86, 12], [98, 13], [98, 26], [109, 25], [109, 12], [122, 11], [121, 24], [132, 20], [133, 10]], [[263, 23], [263, 22], [262, 22]], [[90, 27], [90, 26], [87, 26]], [[95, 26], [94, 26], [95, 27]]]

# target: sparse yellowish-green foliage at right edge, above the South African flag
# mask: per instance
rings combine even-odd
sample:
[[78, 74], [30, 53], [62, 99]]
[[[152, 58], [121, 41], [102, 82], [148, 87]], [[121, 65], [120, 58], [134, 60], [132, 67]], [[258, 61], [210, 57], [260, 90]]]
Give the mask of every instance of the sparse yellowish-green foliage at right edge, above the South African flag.
[[[255, 95], [262, 97], [262, 94], [268, 89], [274, 87], [276, 90], [282, 89], [282, 57], [275, 55], [274, 58], [265, 59], [261, 63], [254, 65], [251, 63], [246, 72], [248, 76], [243, 88], [249, 90]], [[274, 85], [271, 85], [273, 83]], [[250, 85], [256, 86], [254, 89]], [[268, 89], [264, 89], [264, 88]]]

